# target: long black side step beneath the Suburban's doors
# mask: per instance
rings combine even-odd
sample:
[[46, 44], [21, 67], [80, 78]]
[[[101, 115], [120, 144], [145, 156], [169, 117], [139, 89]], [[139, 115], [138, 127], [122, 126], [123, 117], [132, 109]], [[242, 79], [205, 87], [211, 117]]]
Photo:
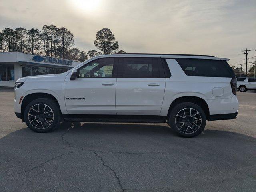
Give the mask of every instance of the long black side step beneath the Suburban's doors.
[[166, 116], [154, 115], [63, 115], [67, 122], [166, 123]]

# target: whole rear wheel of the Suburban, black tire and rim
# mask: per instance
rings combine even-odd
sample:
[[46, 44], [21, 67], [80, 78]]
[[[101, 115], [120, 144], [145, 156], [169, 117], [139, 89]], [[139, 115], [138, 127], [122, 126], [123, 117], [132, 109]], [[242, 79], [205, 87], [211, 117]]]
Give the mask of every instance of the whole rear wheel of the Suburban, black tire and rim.
[[168, 124], [179, 136], [194, 137], [204, 130], [206, 115], [200, 106], [183, 102], [171, 110]]

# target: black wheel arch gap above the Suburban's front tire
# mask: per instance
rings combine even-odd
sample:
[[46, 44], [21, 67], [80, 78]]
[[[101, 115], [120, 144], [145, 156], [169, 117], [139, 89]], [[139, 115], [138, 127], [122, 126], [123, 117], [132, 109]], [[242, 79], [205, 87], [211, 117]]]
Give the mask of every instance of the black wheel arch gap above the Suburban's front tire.
[[[39, 99], [39, 98], [48, 98], [48, 99], [52, 99], [56, 102], [59, 110], [60, 110], [60, 104], [58, 102], [58, 100], [56, 99], [56, 97], [54, 97], [52, 94], [49, 93], [42, 93], [42, 92], [38, 92], [38, 93], [31, 93], [26, 95], [23, 100], [22, 100], [22, 104], [21, 104], [21, 116], [23, 117], [24, 114], [24, 110], [26, 108], [26, 106], [35, 99]], [[61, 110], [60, 110], [61, 113]]]

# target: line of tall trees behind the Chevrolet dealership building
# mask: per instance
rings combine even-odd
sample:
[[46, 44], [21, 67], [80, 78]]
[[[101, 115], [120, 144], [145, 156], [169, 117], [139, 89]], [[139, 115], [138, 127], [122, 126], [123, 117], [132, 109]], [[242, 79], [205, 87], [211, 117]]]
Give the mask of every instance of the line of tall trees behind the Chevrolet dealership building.
[[114, 34], [108, 28], [99, 30], [94, 45], [101, 52], [85, 52], [74, 48], [74, 34], [65, 27], [44, 25], [36, 28], [5, 28], [0, 32], [0, 52], [19, 51], [43, 56], [59, 57], [83, 62], [97, 54], [125, 53], [119, 49]]

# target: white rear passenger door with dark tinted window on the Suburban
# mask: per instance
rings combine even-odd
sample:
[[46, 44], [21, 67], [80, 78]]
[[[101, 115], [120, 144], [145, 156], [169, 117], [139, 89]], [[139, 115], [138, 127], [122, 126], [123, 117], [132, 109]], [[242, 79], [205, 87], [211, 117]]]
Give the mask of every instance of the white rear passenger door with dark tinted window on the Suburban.
[[120, 58], [116, 82], [118, 115], [160, 115], [165, 76], [158, 58]]

